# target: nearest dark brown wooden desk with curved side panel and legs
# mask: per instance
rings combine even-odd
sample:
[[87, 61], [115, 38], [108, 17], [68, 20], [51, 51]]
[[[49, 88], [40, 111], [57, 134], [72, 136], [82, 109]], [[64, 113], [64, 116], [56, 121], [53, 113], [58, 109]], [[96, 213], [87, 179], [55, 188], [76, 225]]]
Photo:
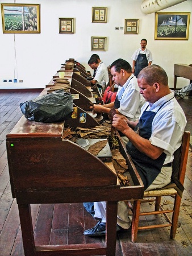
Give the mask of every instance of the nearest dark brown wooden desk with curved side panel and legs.
[[[116, 174], [101, 159], [62, 139], [63, 131], [64, 122], [39, 123], [23, 116], [7, 134], [11, 191], [18, 203], [24, 253], [115, 256], [118, 201], [143, 199], [143, 183], [119, 135], [119, 150], [133, 183], [128, 187], [120, 187]], [[107, 201], [105, 243], [35, 245], [31, 204], [88, 201]]]

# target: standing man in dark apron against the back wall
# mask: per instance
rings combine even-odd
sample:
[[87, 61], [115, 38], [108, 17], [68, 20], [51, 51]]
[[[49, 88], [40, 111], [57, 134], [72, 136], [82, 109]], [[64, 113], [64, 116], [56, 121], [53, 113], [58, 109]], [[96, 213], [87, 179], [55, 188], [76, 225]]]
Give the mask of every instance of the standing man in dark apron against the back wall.
[[131, 59], [133, 60], [132, 64], [132, 73], [137, 77], [141, 69], [151, 65], [153, 61], [152, 53], [149, 49], [146, 48], [147, 40], [141, 39], [141, 48], [136, 49], [133, 53]]

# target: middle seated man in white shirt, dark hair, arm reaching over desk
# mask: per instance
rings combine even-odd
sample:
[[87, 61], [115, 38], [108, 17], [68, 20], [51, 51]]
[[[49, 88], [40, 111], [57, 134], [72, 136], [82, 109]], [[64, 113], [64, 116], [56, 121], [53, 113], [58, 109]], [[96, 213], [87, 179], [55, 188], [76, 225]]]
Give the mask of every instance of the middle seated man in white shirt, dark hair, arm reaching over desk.
[[112, 80], [119, 85], [114, 102], [105, 105], [93, 105], [95, 113], [109, 113], [112, 108], [116, 113], [125, 115], [135, 121], [139, 118], [141, 106], [145, 100], [141, 96], [136, 77], [132, 74], [131, 65], [123, 59], [115, 60], [111, 65]]

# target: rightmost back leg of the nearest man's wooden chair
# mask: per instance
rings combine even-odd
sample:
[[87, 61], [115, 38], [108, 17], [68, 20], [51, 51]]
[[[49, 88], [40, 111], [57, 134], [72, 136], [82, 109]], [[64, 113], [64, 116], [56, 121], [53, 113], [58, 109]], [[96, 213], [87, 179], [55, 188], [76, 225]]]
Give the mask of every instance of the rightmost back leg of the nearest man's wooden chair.
[[170, 238], [176, 237], [177, 225], [178, 225], [178, 217], [180, 214], [180, 205], [181, 205], [181, 197], [177, 194], [174, 201], [174, 212], [172, 216], [172, 227], [170, 229]]

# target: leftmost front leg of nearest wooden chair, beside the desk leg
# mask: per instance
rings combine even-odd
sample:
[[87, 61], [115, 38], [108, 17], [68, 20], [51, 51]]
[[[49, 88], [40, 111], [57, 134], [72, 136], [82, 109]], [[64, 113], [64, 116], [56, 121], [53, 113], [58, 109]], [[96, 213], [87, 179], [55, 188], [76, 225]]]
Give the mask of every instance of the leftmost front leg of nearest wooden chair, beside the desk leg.
[[140, 205], [141, 205], [141, 200], [136, 200], [133, 203], [132, 230], [131, 230], [131, 241], [132, 242], [137, 241]]

